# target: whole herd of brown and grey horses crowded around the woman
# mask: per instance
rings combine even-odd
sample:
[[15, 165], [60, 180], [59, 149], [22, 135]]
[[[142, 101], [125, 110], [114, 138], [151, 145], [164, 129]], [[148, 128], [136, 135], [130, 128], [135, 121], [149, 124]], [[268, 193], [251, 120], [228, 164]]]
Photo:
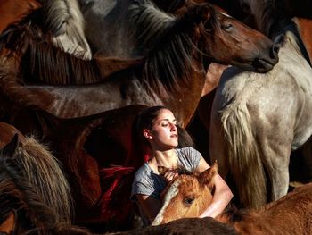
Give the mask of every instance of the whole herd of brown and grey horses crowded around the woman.
[[[250, 27], [220, 10], [218, 1], [25, 0], [18, 12], [6, 12], [0, 27], [0, 231], [90, 234], [72, 224], [100, 232], [135, 227], [129, 189], [146, 159], [134, 145], [132, 123], [144, 107], [166, 105], [182, 127], [182, 146], [190, 138], [184, 129], [200, 116], [209, 131], [209, 162], [217, 160], [221, 176], [234, 181], [238, 206], [253, 209], [225, 212], [217, 221], [177, 220], [198, 215], [177, 214], [185, 202], [198, 206], [201, 197], [211, 197], [213, 166], [199, 180], [207, 186], [182, 183], [198, 197], [185, 200], [179, 192], [182, 205], [173, 200], [175, 210], [162, 209], [157, 226], [127, 234], [183, 234], [194, 224], [205, 234], [269, 234], [273, 227], [309, 234], [311, 186], [285, 195], [291, 151], [312, 134], [312, 41], [291, 15], [307, 22], [312, 13], [283, 1], [234, 1], [240, 9], [234, 16]], [[234, 2], [228, 8], [231, 1], [222, 2], [234, 14]], [[224, 64], [221, 76], [209, 74], [212, 63]], [[211, 74], [218, 87], [206, 94]], [[166, 216], [168, 223], [159, 225]]]

